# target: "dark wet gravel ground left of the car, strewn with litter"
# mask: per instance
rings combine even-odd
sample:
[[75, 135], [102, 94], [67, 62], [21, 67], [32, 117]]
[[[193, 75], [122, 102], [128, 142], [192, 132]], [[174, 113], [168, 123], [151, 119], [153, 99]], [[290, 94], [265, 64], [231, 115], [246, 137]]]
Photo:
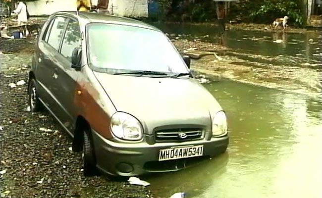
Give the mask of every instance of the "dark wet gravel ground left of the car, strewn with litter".
[[[0, 42], [3, 51], [14, 52], [25, 47], [32, 51], [30, 44], [24, 46], [24, 40]], [[30, 58], [26, 52], [5, 54], [6, 58], [28, 55]], [[47, 111], [25, 110], [27, 84], [8, 86], [20, 80], [28, 81], [29, 68], [22, 62], [13, 59], [10, 69], [0, 74], [1, 198], [153, 198], [147, 188], [129, 185], [127, 178], [83, 176], [81, 155], [69, 150], [69, 135]], [[54, 132], [41, 132], [40, 128]]]

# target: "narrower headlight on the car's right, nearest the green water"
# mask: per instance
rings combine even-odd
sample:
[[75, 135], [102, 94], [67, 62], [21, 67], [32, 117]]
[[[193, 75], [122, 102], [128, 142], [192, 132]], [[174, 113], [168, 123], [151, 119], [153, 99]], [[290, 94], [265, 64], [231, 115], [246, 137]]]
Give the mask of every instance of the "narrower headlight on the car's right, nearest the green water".
[[227, 134], [227, 119], [223, 111], [215, 114], [213, 119], [213, 136], [223, 136]]

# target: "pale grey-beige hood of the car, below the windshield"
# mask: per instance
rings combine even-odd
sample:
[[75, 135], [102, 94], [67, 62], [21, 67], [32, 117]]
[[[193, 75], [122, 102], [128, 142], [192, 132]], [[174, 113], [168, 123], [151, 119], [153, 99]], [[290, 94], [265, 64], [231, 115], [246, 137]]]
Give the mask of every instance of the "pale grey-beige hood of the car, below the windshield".
[[195, 79], [94, 74], [117, 111], [136, 117], [146, 134], [171, 125], [210, 130], [211, 117], [221, 110], [214, 97]]

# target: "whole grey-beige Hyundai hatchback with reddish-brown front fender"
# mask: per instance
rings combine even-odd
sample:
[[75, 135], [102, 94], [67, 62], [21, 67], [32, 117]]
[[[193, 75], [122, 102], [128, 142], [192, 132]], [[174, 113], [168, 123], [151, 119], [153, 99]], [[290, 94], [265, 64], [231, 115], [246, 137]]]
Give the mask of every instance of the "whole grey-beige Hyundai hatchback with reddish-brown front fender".
[[73, 137], [86, 176], [179, 170], [228, 146], [225, 113], [189, 68], [153, 26], [56, 12], [36, 44], [29, 103]]

